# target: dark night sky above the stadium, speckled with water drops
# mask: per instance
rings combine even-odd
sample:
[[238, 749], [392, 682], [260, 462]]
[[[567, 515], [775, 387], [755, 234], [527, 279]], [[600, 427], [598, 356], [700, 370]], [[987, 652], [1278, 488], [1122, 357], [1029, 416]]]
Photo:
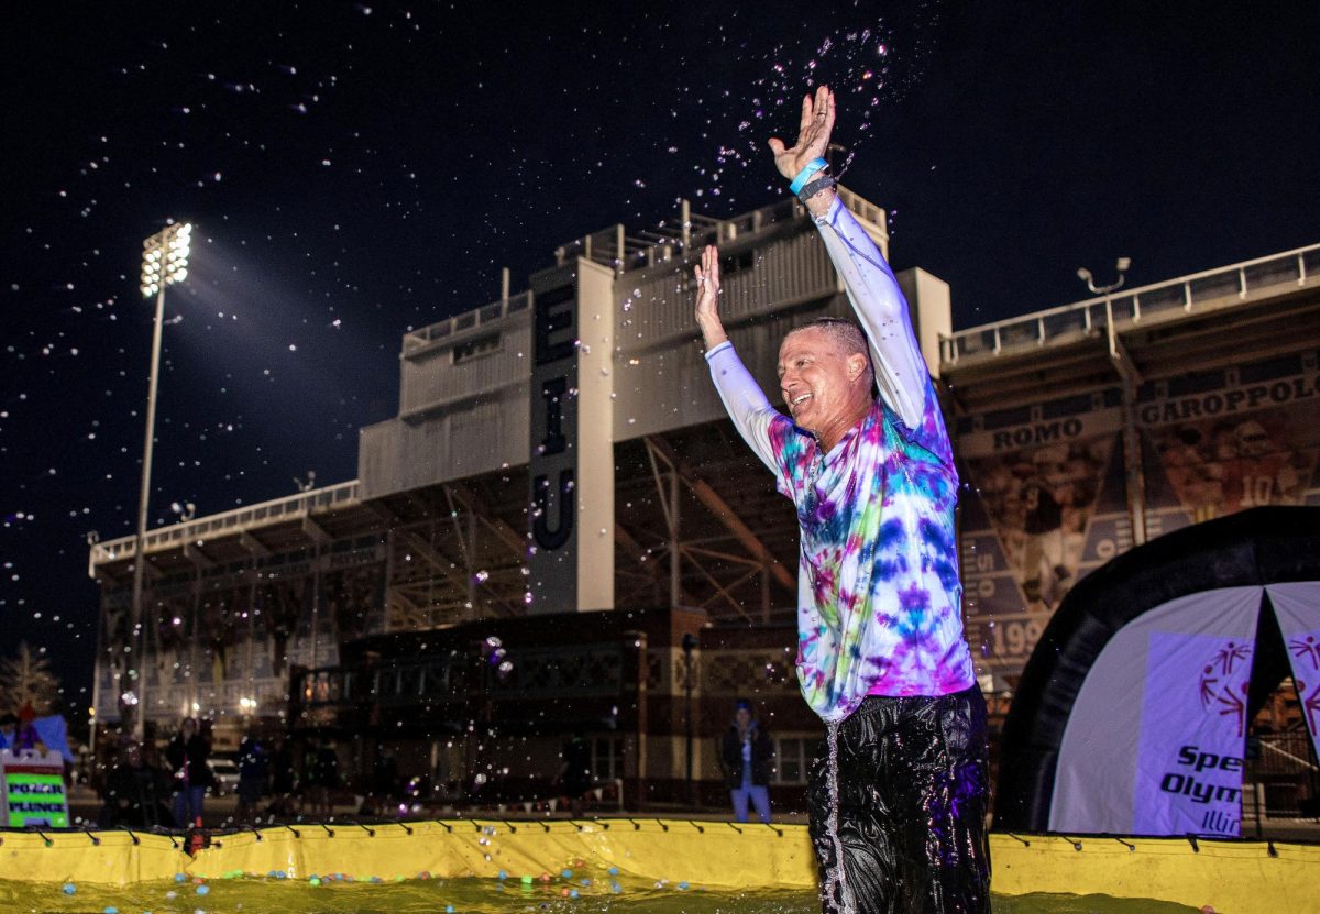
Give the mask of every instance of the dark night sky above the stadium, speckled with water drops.
[[[1164, 7], [1177, 7], [1166, 9]], [[766, 137], [840, 94], [845, 184], [966, 328], [1320, 242], [1320, 4], [16, 4], [0, 30], [0, 655], [90, 700], [84, 534], [356, 474], [400, 335], [558, 244], [779, 199]], [[694, 383], [708, 383], [705, 378]]]

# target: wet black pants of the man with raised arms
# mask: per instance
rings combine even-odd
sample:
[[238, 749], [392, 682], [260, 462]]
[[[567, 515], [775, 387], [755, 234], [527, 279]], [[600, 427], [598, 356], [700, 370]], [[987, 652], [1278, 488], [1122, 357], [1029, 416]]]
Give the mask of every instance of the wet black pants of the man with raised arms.
[[[981, 691], [873, 695], [838, 725], [837, 741], [837, 814], [829, 738], [812, 766], [809, 795], [825, 914], [989, 911]], [[840, 855], [842, 877], [832, 878]]]

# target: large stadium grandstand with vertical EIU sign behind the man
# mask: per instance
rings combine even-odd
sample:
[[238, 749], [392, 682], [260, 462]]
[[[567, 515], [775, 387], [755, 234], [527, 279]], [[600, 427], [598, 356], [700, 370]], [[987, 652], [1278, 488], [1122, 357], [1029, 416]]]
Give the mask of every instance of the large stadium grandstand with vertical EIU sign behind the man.
[[[842, 195], [888, 256], [884, 211]], [[795, 672], [797, 523], [706, 375], [708, 243], [767, 390], [789, 328], [849, 313], [795, 199], [733, 219], [682, 203], [557, 247], [527, 291], [506, 276], [498, 301], [404, 334], [399, 412], [362, 429], [356, 479], [156, 528], [140, 557], [135, 538], [92, 545], [98, 734], [129, 711], [140, 559], [132, 712], [156, 738], [189, 715], [220, 750], [289, 732], [333, 745], [356, 792], [389, 758], [437, 802], [533, 808], [579, 734], [598, 808], [722, 806], [714, 738], [747, 697], [772, 795], [800, 803], [822, 729]], [[948, 284], [899, 273], [960, 461], [966, 635], [997, 725], [1092, 572], [1320, 505], [1317, 275], [1320, 244], [956, 330]], [[1269, 749], [1243, 818], [1320, 792], [1295, 679], [1253, 704]]]

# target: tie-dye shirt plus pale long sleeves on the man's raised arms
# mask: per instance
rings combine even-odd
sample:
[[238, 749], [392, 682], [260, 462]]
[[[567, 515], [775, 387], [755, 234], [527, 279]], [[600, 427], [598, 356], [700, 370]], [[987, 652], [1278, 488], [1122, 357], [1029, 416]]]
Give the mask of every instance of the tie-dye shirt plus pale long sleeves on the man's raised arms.
[[867, 695], [948, 695], [975, 676], [962, 637], [944, 416], [888, 264], [836, 201], [817, 218], [871, 342], [878, 399], [830, 450], [770, 405], [729, 342], [706, 354], [739, 433], [793, 499], [801, 526], [797, 678], [826, 721]]

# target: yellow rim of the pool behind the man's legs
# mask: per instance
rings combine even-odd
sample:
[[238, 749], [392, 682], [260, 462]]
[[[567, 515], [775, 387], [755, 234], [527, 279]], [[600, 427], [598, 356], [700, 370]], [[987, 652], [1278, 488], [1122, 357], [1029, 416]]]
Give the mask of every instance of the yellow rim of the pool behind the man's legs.
[[[135, 843], [136, 839], [136, 843]], [[993, 833], [993, 889], [1155, 898], [1217, 914], [1320, 911], [1320, 845]], [[190, 857], [180, 839], [110, 832], [0, 832], [0, 878], [128, 885], [176, 873], [305, 880], [557, 876], [609, 869], [693, 886], [816, 886], [805, 826], [663, 819], [449, 819], [272, 827], [218, 835]]]

